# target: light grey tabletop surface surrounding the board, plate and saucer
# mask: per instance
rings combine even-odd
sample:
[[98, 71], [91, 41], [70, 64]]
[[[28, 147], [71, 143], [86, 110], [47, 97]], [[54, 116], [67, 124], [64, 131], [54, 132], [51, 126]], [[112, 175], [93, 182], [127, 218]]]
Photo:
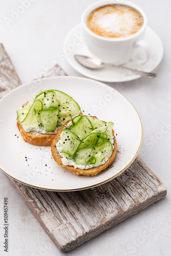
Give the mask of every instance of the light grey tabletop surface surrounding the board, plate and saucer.
[[[22, 1], [20, 1], [22, 2]], [[82, 11], [93, 0], [32, 1], [28, 9], [9, 24], [12, 9], [19, 1], [0, 1], [0, 41], [4, 44], [23, 83], [41, 76], [54, 62], [71, 76], [80, 76], [62, 55], [62, 45], [69, 30], [80, 22]], [[118, 1], [121, 3], [121, 1]], [[169, 1], [132, 1], [147, 14], [148, 25], [161, 37], [164, 57], [155, 70], [154, 80], [140, 78], [131, 82], [110, 83], [123, 93], [140, 114], [144, 138], [140, 157], [162, 180], [168, 195], [139, 214], [101, 233], [67, 253], [68, 255], [171, 255], [170, 252], [170, 8]], [[68, 53], [69, 54], [69, 53]], [[62, 56], [61, 56], [62, 55]], [[169, 123], [169, 125], [166, 125]], [[164, 128], [163, 124], [166, 126]], [[9, 157], [9, 156], [7, 156]], [[17, 168], [17, 166], [14, 166]], [[63, 255], [49, 238], [23, 199], [0, 173], [0, 254], [13, 256]], [[3, 201], [9, 198], [9, 252], [3, 253]]]

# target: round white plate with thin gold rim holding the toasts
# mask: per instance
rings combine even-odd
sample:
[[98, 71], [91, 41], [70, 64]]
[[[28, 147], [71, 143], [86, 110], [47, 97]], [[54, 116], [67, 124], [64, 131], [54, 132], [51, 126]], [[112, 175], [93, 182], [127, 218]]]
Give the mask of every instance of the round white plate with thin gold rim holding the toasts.
[[[48, 89], [71, 95], [84, 114], [115, 123], [118, 153], [113, 167], [96, 176], [74, 175], [54, 161], [50, 147], [33, 146], [23, 140], [16, 126], [16, 110], [40, 90]], [[0, 168], [13, 179], [41, 189], [71, 191], [107, 182], [134, 161], [142, 143], [141, 120], [130, 101], [111, 87], [88, 78], [52, 77], [23, 84], [0, 100], [0, 109]]]

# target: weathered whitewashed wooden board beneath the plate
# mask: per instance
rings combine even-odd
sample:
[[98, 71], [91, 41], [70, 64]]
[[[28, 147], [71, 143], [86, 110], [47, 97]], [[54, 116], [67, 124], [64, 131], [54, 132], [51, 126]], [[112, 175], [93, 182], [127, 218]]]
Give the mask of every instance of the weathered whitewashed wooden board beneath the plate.
[[[4, 59], [7, 59], [4, 63], [6, 68], [3, 69], [4, 77], [8, 63], [12, 64], [2, 45], [0, 58], [1, 56], [6, 56]], [[20, 84], [12, 67], [11, 70], [13, 72], [6, 76], [7, 81], [1, 78], [0, 73], [2, 89], [6, 88], [5, 84], [10, 85], [8, 90]], [[47, 72], [47, 76], [54, 75], [66, 75], [66, 73], [55, 65]], [[32, 188], [11, 178], [9, 180], [63, 252], [72, 250], [136, 214], [164, 198], [167, 193], [166, 187], [139, 157], [120, 176], [87, 190], [57, 193]]]

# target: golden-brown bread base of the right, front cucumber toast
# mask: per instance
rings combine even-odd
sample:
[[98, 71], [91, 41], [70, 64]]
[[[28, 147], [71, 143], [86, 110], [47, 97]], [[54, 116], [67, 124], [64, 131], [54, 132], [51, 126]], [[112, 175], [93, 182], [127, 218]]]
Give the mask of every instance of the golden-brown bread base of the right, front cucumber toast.
[[[94, 118], [97, 118], [95, 116], [91, 116], [91, 117], [94, 117]], [[69, 120], [67, 123], [69, 123], [71, 120]], [[108, 167], [110, 165], [110, 163], [113, 162], [114, 158], [115, 158], [115, 155], [116, 155], [116, 151], [117, 151], [117, 142], [116, 142], [116, 138], [114, 139], [114, 148], [113, 148], [113, 151], [112, 151], [112, 155], [110, 156], [110, 158], [108, 159], [108, 161], [105, 162], [105, 164], [102, 164], [102, 165], [99, 165], [97, 167], [93, 167], [93, 168], [90, 168], [90, 169], [78, 169], [78, 168], [74, 168], [74, 166], [70, 166], [70, 165], [63, 165], [62, 163], [62, 157], [59, 155], [57, 149], [56, 149], [56, 144], [57, 142], [59, 141], [60, 139], [60, 135], [63, 131], [63, 129], [65, 128], [65, 125], [63, 125], [63, 127], [61, 127], [58, 131], [57, 131], [57, 134], [55, 136], [55, 138], [53, 139], [52, 141], [52, 144], [51, 144], [51, 153], [52, 153], [52, 157], [54, 158], [54, 160], [62, 167], [66, 167], [67, 169], [70, 170], [70, 172], [74, 173], [74, 174], [81, 174], [81, 175], [90, 175], [90, 176], [94, 176], [98, 173], [100, 173], [102, 170], [104, 170], [106, 167]], [[115, 136], [115, 133], [114, 133], [114, 130], [112, 130], [112, 134], [113, 136]]]

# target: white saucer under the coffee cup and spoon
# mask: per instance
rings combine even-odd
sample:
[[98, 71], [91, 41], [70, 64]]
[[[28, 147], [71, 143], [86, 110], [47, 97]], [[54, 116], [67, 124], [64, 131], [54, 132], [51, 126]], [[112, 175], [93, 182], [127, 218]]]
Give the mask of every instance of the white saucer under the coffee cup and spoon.
[[[146, 72], [153, 71], [160, 63], [163, 56], [163, 45], [159, 36], [153, 29], [147, 27], [145, 41], [151, 48], [151, 58], [146, 60], [145, 52], [140, 47], [135, 49], [133, 59], [124, 66], [139, 69]], [[82, 39], [81, 24], [75, 26], [66, 36], [63, 52], [70, 65], [79, 73], [89, 78], [105, 82], [124, 82], [137, 79], [141, 76], [132, 72], [115, 68], [102, 68], [90, 70], [81, 66], [74, 58], [75, 54], [92, 56], [86, 46], [85, 39]]]

